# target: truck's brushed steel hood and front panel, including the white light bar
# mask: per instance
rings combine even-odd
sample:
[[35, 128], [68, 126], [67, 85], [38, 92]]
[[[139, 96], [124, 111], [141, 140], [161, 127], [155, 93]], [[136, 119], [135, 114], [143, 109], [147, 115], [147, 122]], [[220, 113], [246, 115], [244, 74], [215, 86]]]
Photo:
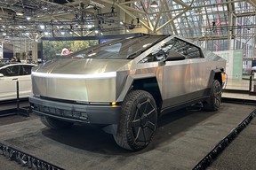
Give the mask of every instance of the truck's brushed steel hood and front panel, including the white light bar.
[[116, 63], [92, 59], [50, 62], [32, 73], [33, 93], [84, 102], [115, 101], [116, 72], [111, 71], [116, 71], [116, 67], [123, 66], [127, 61]]

